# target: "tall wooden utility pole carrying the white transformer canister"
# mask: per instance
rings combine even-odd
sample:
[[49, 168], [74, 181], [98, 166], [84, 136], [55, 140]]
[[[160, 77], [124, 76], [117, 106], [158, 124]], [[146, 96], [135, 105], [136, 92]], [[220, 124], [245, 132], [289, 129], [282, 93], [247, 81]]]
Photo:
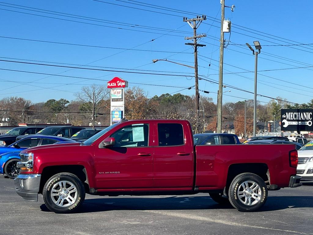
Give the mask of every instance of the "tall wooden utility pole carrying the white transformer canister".
[[222, 132], [222, 96], [223, 96], [223, 56], [224, 56], [224, 11], [225, 11], [225, 0], [221, 0], [221, 39], [219, 46], [219, 70], [218, 70], [218, 90], [221, 91], [218, 94], [218, 112], [217, 112], [217, 133]]

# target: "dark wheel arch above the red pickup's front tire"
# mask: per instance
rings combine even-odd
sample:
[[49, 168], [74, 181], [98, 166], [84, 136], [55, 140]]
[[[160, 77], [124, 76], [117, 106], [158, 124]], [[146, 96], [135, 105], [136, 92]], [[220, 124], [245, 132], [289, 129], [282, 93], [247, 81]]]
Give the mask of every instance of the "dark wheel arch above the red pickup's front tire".
[[43, 192], [44, 185], [50, 177], [61, 172], [68, 172], [76, 175], [85, 187], [86, 193], [90, 193], [89, 180], [85, 166], [83, 165], [54, 165], [46, 166], [41, 173], [39, 193]]

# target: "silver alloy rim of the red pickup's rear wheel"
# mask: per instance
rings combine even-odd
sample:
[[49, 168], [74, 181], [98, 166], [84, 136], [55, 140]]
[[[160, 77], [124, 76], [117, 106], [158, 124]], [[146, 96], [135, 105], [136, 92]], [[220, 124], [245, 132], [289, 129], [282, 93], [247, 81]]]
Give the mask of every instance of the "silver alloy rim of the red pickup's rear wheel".
[[261, 200], [261, 187], [252, 180], [244, 181], [237, 190], [239, 201], [246, 206], [253, 206]]

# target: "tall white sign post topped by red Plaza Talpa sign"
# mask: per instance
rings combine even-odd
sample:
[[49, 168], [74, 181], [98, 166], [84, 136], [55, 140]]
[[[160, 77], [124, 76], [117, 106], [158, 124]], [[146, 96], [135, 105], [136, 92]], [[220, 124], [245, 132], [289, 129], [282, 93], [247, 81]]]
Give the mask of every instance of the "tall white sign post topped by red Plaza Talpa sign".
[[112, 125], [125, 117], [124, 89], [128, 87], [128, 82], [119, 77], [114, 77], [111, 81], [108, 81], [107, 87], [111, 89], [110, 124]]

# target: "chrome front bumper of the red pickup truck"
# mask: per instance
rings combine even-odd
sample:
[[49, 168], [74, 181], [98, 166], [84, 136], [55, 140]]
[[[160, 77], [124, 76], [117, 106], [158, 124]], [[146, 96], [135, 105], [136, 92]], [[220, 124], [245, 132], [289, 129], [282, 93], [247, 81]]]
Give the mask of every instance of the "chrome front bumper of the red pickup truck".
[[18, 175], [14, 179], [16, 193], [26, 201], [38, 201], [40, 174]]

